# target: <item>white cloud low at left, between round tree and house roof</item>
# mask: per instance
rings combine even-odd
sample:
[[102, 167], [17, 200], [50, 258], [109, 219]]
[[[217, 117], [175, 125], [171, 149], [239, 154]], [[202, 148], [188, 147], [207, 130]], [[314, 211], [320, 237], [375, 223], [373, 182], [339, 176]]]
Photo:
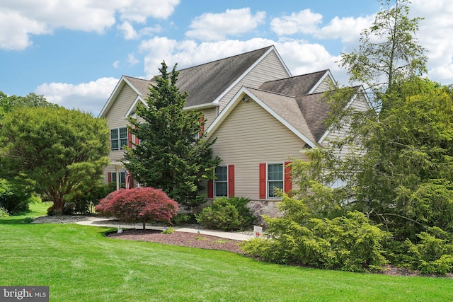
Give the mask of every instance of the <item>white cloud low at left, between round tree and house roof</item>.
[[77, 85], [69, 83], [44, 83], [36, 89], [38, 95], [65, 108], [75, 108], [97, 116], [115, 88], [118, 79], [101, 78]]

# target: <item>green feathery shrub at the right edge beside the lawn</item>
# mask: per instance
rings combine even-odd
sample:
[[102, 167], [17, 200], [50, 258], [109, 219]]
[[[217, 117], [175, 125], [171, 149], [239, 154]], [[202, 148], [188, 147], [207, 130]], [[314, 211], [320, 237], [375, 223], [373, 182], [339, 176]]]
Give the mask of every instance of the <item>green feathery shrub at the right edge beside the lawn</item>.
[[417, 235], [420, 242], [413, 244], [406, 240], [407, 260], [412, 269], [423, 274], [446, 274], [453, 272], [452, 235], [440, 228], [428, 228]]

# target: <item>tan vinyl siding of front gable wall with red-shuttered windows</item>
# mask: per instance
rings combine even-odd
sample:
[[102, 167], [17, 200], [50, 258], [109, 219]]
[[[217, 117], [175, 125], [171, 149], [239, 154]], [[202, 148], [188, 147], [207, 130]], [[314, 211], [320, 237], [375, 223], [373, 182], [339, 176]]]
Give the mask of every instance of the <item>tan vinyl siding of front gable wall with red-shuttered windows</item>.
[[[222, 165], [234, 165], [235, 195], [259, 199], [259, 163], [306, 160], [304, 141], [253, 101], [240, 102], [212, 138]], [[294, 187], [294, 186], [293, 186]]]

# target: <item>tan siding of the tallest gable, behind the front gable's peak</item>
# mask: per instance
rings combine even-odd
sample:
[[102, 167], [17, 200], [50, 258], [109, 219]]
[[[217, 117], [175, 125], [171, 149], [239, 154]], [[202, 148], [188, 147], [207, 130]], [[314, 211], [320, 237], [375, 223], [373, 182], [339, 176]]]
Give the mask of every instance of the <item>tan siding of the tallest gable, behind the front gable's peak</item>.
[[283, 79], [288, 76], [289, 74], [287, 74], [280, 59], [278, 59], [277, 54], [275, 54], [275, 52], [270, 52], [263, 60], [253, 67], [253, 69], [244, 76], [234, 88], [219, 100], [219, 112], [225, 108], [226, 104], [234, 97], [242, 86], [258, 88], [258, 86], [264, 82]]

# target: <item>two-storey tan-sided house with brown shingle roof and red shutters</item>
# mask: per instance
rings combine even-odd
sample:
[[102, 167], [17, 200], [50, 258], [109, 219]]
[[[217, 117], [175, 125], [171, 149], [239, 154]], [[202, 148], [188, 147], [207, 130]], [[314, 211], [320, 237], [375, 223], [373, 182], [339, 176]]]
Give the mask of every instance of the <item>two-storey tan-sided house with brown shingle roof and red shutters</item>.
[[[222, 158], [217, 179], [207, 183], [207, 198], [242, 196], [258, 214], [276, 214], [273, 188], [285, 191], [294, 183], [285, 167], [291, 158], [307, 159], [303, 150], [319, 148], [341, 135], [326, 129], [328, 106], [323, 91], [335, 83], [330, 71], [291, 76], [275, 50], [238, 54], [179, 71], [176, 85], [187, 91], [185, 110], [202, 110], [207, 139], [217, 137], [214, 155]], [[110, 129], [110, 165], [104, 181], [125, 182], [122, 146], [135, 138], [127, 132], [127, 117], [145, 103], [151, 81], [122, 76], [101, 110]], [[350, 104], [366, 108], [363, 98]]]

